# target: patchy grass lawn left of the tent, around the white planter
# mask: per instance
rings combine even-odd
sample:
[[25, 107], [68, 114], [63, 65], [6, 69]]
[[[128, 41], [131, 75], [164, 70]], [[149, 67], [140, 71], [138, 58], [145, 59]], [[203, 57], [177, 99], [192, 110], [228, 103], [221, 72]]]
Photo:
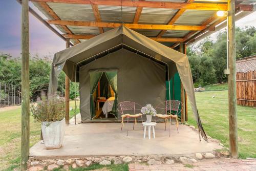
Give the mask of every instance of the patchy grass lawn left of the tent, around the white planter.
[[[74, 109], [75, 102], [70, 101]], [[79, 107], [79, 101], [78, 105]], [[0, 108], [0, 170], [13, 170], [20, 163], [21, 106]], [[79, 113], [79, 109], [77, 110]], [[70, 111], [70, 118], [74, 110]], [[30, 116], [30, 146], [40, 140], [41, 125]]]

